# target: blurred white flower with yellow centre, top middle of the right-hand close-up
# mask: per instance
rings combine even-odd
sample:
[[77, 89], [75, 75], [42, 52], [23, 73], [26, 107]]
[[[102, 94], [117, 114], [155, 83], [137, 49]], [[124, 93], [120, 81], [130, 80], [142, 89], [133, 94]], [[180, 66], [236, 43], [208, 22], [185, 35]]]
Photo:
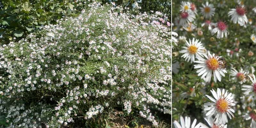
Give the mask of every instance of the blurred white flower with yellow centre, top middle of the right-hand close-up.
[[205, 4], [202, 4], [203, 7], [200, 7], [201, 13], [205, 18], [211, 18], [215, 14], [215, 8], [212, 4], [209, 4], [207, 1]]

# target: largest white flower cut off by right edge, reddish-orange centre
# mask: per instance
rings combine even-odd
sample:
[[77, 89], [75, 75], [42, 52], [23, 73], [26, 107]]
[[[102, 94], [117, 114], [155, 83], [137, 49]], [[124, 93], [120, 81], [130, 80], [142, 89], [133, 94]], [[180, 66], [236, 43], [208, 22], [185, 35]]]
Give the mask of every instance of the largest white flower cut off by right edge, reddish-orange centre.
[[244, 95], [249, 96], [248, 100], [250, 100], [256, 93], [256, 78], [254, 74], [248, 75], [250, 80], [252, 81], [251, 85], [243, 85], [242, 90], [245, 91]]

